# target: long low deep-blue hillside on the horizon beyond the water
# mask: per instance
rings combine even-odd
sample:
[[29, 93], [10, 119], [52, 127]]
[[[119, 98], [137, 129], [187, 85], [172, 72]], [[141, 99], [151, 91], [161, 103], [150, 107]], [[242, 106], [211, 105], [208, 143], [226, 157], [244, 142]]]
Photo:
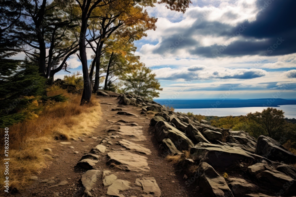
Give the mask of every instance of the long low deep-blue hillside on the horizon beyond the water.
[[[272, 102], [273, 101], [273, 102]], [[286, 99], [205, 99], [205, 100], [169, 100], [155, 99], [161, 105], [175, 109], [190, 108], [242, 108], [242, 107], [278, 107], [279, 105], [296, 105], [296, 100]]]

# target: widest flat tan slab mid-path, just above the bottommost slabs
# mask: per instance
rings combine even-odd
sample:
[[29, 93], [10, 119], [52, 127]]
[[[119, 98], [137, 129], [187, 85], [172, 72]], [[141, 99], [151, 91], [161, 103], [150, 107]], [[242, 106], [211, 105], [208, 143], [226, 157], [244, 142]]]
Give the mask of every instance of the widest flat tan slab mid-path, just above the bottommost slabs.
[[121, 170], [132, 172], [149, 172], [150, 170], [147, 163], [147, 157], [142, 155], [128, 151], [113, 151], [109, 152], [108, 156], [110, 157], [108, 162], [118, 164], [117, 167]]

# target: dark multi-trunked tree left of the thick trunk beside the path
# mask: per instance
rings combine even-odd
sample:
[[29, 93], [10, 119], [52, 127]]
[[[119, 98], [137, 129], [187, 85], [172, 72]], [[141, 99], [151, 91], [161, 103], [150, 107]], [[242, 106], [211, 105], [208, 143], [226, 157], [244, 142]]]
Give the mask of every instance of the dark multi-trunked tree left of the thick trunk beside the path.
[[[55, 73], [66, 70], [67, 59], [78, 50], [78, 41], [70, 34], [70, 29], [78, 25], [73, 19], [73, 2], [19, 2], [24, 7], [22, 20], [17, 23], [11, 36], [22, 41], [23, 47], [20, 49], [32, 61], [38, 62], [39, 73], [47, 79], [53, 80]], [[49, 84], [52, 84], [52, 80]]]

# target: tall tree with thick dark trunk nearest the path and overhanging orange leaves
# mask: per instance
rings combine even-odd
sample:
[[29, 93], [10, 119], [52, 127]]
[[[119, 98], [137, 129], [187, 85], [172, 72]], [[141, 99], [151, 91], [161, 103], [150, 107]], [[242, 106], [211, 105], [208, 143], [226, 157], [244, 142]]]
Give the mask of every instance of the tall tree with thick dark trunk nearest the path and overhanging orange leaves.
[[[101, 27], [106, 28], [105, 22], [115, 19], [112, 22], [112, 27], [120, 27], [120, 23], [122, 21], [126, 22], [126, 28], [133, 27], [139, 24], [139, 28], [144, 28], [144, 30], [155, 29], [156, 20], [153, 17], [149, 17], [146, 10], [143, 11], [143, 7], [146, 6], [154, 6], [154, 3], [157, 3], [157, 0], [148, 0], [148, 1], [129, 1], [129, 0], [110, 0], [110, 1], [102, 1], [102, 0], [75, 0], [80, 9], [81, 9], [81, 29], [79, 36], [79, 59], [82, 64], [83, 71], [83, 80], [84, 80], [84, 88], [83, 94], [81, 97], [81, 105], [85, 103], [89, 103], [91, 99], [91, 80], [88, 73], [88, 65], [87, 65], [87, 57], [86, 57], [86, 37], [87, 30], [89, 27], [88, 21], [90, 18], [100, 18], [101, 19]], [[178, 12], [185, 12], [186, 8], [188, 8], [189, 0], [162, 0], [158, 2], [159, 4], [165, 3], [167, 7], [171, 10], [176, 10]], [[115, 5], [115, 6], [114, 6]], [[109, 7], [110, 6], [110, 7]], [[138, 9], [139, 11], [130, 12], [131, 10]], [[108, 11], [108, 12], [96, 12], [96, 10]], [[109, 12], [112, 11], [112, 12]], [[94, 12], [94, 13], [93, 13]], [[131, 17], [132, 16], [132, 17]], [[135, 17], [138, 17], [136, 20]], [[103, 25], [104, 24], [104, 25]], [[111, 27], [111, 28], [112, 28]], [[107, 27], [108, 30], [110, 27]], [[116, 28], [115, 28], [116, 29]], [[115, 30], [114, 30], [115, 31]], [[95, 31], [93, 31], [95, 32]], [[112, 30], [110, 31], [110, 33]], [[99, 32], [99, 35], [102, 35]], [[103, 38], [102, 36], [97, 37]], [[89, 40], [88, 44], [91, 43]], [[98, 45], [97, 45], [98, 46]], [[99, 45], [100, 47], [100, 45]], [[98, 48], [98, 47], [97, 47]], [[100, 56], [99, 51], [96, 50], [96, 56]], [[99, 83], [99, 60], [94, 61], [96, 64], [96, 78], [94, 89], [98, 88]], [[91, 68], [91, 71], [93, 68]], [[92, 74], [90, 73], [92, 76]]]

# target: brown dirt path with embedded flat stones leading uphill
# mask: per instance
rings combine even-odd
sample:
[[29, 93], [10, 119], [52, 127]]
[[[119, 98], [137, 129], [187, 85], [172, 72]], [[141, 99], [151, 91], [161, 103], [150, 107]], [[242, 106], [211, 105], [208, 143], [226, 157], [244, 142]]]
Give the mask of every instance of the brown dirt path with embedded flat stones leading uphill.
[[[193, 196], [173, 166], [164, 160], [149, 130], [150, 120], [140, 115], [141, 108], [118, 106], [116, 97], [99, 98], [102, 118], [95, 132], [70, 144], [57, 142], [48, 168], [17, 196], [83, 196], [86, 188], [98, 197], [107, 197], [107, 193], [120, 197]], [[84, 155], [88, 155], [84, 157], [87, 161], [96, 162], [95, 170], [76, 166]], [[82, 164], [89, 166], [87, 162]]]

